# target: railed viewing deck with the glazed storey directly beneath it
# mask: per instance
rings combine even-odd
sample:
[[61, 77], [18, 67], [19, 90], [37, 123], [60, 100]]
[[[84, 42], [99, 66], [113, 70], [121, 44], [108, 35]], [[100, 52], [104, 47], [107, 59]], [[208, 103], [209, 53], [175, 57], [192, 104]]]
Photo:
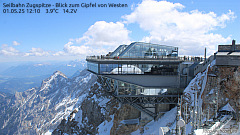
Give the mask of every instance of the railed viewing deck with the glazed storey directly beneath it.
[[202, 57], [112, 57], [87, 56], [89, 71], [98, 75], [145, 74], [178, 75], [178, 66], [182, 62], [199, 63]]

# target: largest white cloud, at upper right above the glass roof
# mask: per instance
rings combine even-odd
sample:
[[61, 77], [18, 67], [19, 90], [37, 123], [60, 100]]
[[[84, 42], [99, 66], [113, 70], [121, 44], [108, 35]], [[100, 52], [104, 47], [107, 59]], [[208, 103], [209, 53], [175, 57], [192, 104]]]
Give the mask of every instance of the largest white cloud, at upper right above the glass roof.
[[235, 18], [232, 11], [218, 16], [214, 12], [198, 10], [184, 12], [184, 8], [180, 3], [144, 0], [131, 14], [122, 18], [125, 23], [137, 23], [149, 32], [142, 41], [178, 46], [179, 52], [185, 55], [203, 54], [204, 47], [213, 54], [217, 44], [231, 39], [212, 32], [224, 28], [226, 22]]

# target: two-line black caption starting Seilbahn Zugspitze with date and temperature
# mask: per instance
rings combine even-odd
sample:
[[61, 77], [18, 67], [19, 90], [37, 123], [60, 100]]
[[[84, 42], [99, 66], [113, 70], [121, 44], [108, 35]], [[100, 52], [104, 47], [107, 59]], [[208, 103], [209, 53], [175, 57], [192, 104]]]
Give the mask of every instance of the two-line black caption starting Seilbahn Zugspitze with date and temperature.
[[123, 3], [2, 3], [4, 14], [78, 13], [79, 8], [126, 8]]

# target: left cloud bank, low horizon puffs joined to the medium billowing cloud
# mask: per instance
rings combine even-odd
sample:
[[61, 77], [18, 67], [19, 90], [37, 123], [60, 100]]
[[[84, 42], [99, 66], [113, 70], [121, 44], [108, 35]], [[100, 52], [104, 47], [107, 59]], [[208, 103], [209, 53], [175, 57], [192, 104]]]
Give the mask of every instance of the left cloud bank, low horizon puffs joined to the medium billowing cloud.
[[[94, 23], [77, 39], [70, 39], [63, 47], [63, 51], [45, 51], [42, 48], [31, 48], [28, 52], [19, 52], [14, 47], [3, 45], [0, 54], [8, 56], [77, 56], [85, 58], [87, 55], [102, 55], [112, 51], [119, 44], [129, 44], [129, 33], [121, 22], [105, 22], [98, 21]], [[17, 41], [13, 41], [13, 45], [20, 45]]]

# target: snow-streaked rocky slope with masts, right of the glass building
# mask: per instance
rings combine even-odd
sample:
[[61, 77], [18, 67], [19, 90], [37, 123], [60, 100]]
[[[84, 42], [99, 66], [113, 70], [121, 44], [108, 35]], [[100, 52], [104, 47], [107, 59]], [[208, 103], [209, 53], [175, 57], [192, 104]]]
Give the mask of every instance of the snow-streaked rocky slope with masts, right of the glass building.
[[[196, 100], [194, 101], [194, 99]], [[213, 61], [204, 72], [197, 74], [190, 82], [184, 90], [181, 109], [182, 118], [186, 118], [187, 129], [190, 129], [187, 133], [191, 132], [190, 123], [194, 122], [192, 113], [194, 108], [197, 110], [195, 122], [198, 125], [203, 125], [209, 119], [209, 121], [216, 119], [220, 116], [218, 112], [223, 108], [227, 111], [233, 111], [233, 121], [228, 123], [230, 125], [227, 125], [227, 128], [235, 127], [238, 129], [240, 118], [240, 67], [215, 66], [215, 61]], [[200, 127], [198, 126], [198, 128]]]

